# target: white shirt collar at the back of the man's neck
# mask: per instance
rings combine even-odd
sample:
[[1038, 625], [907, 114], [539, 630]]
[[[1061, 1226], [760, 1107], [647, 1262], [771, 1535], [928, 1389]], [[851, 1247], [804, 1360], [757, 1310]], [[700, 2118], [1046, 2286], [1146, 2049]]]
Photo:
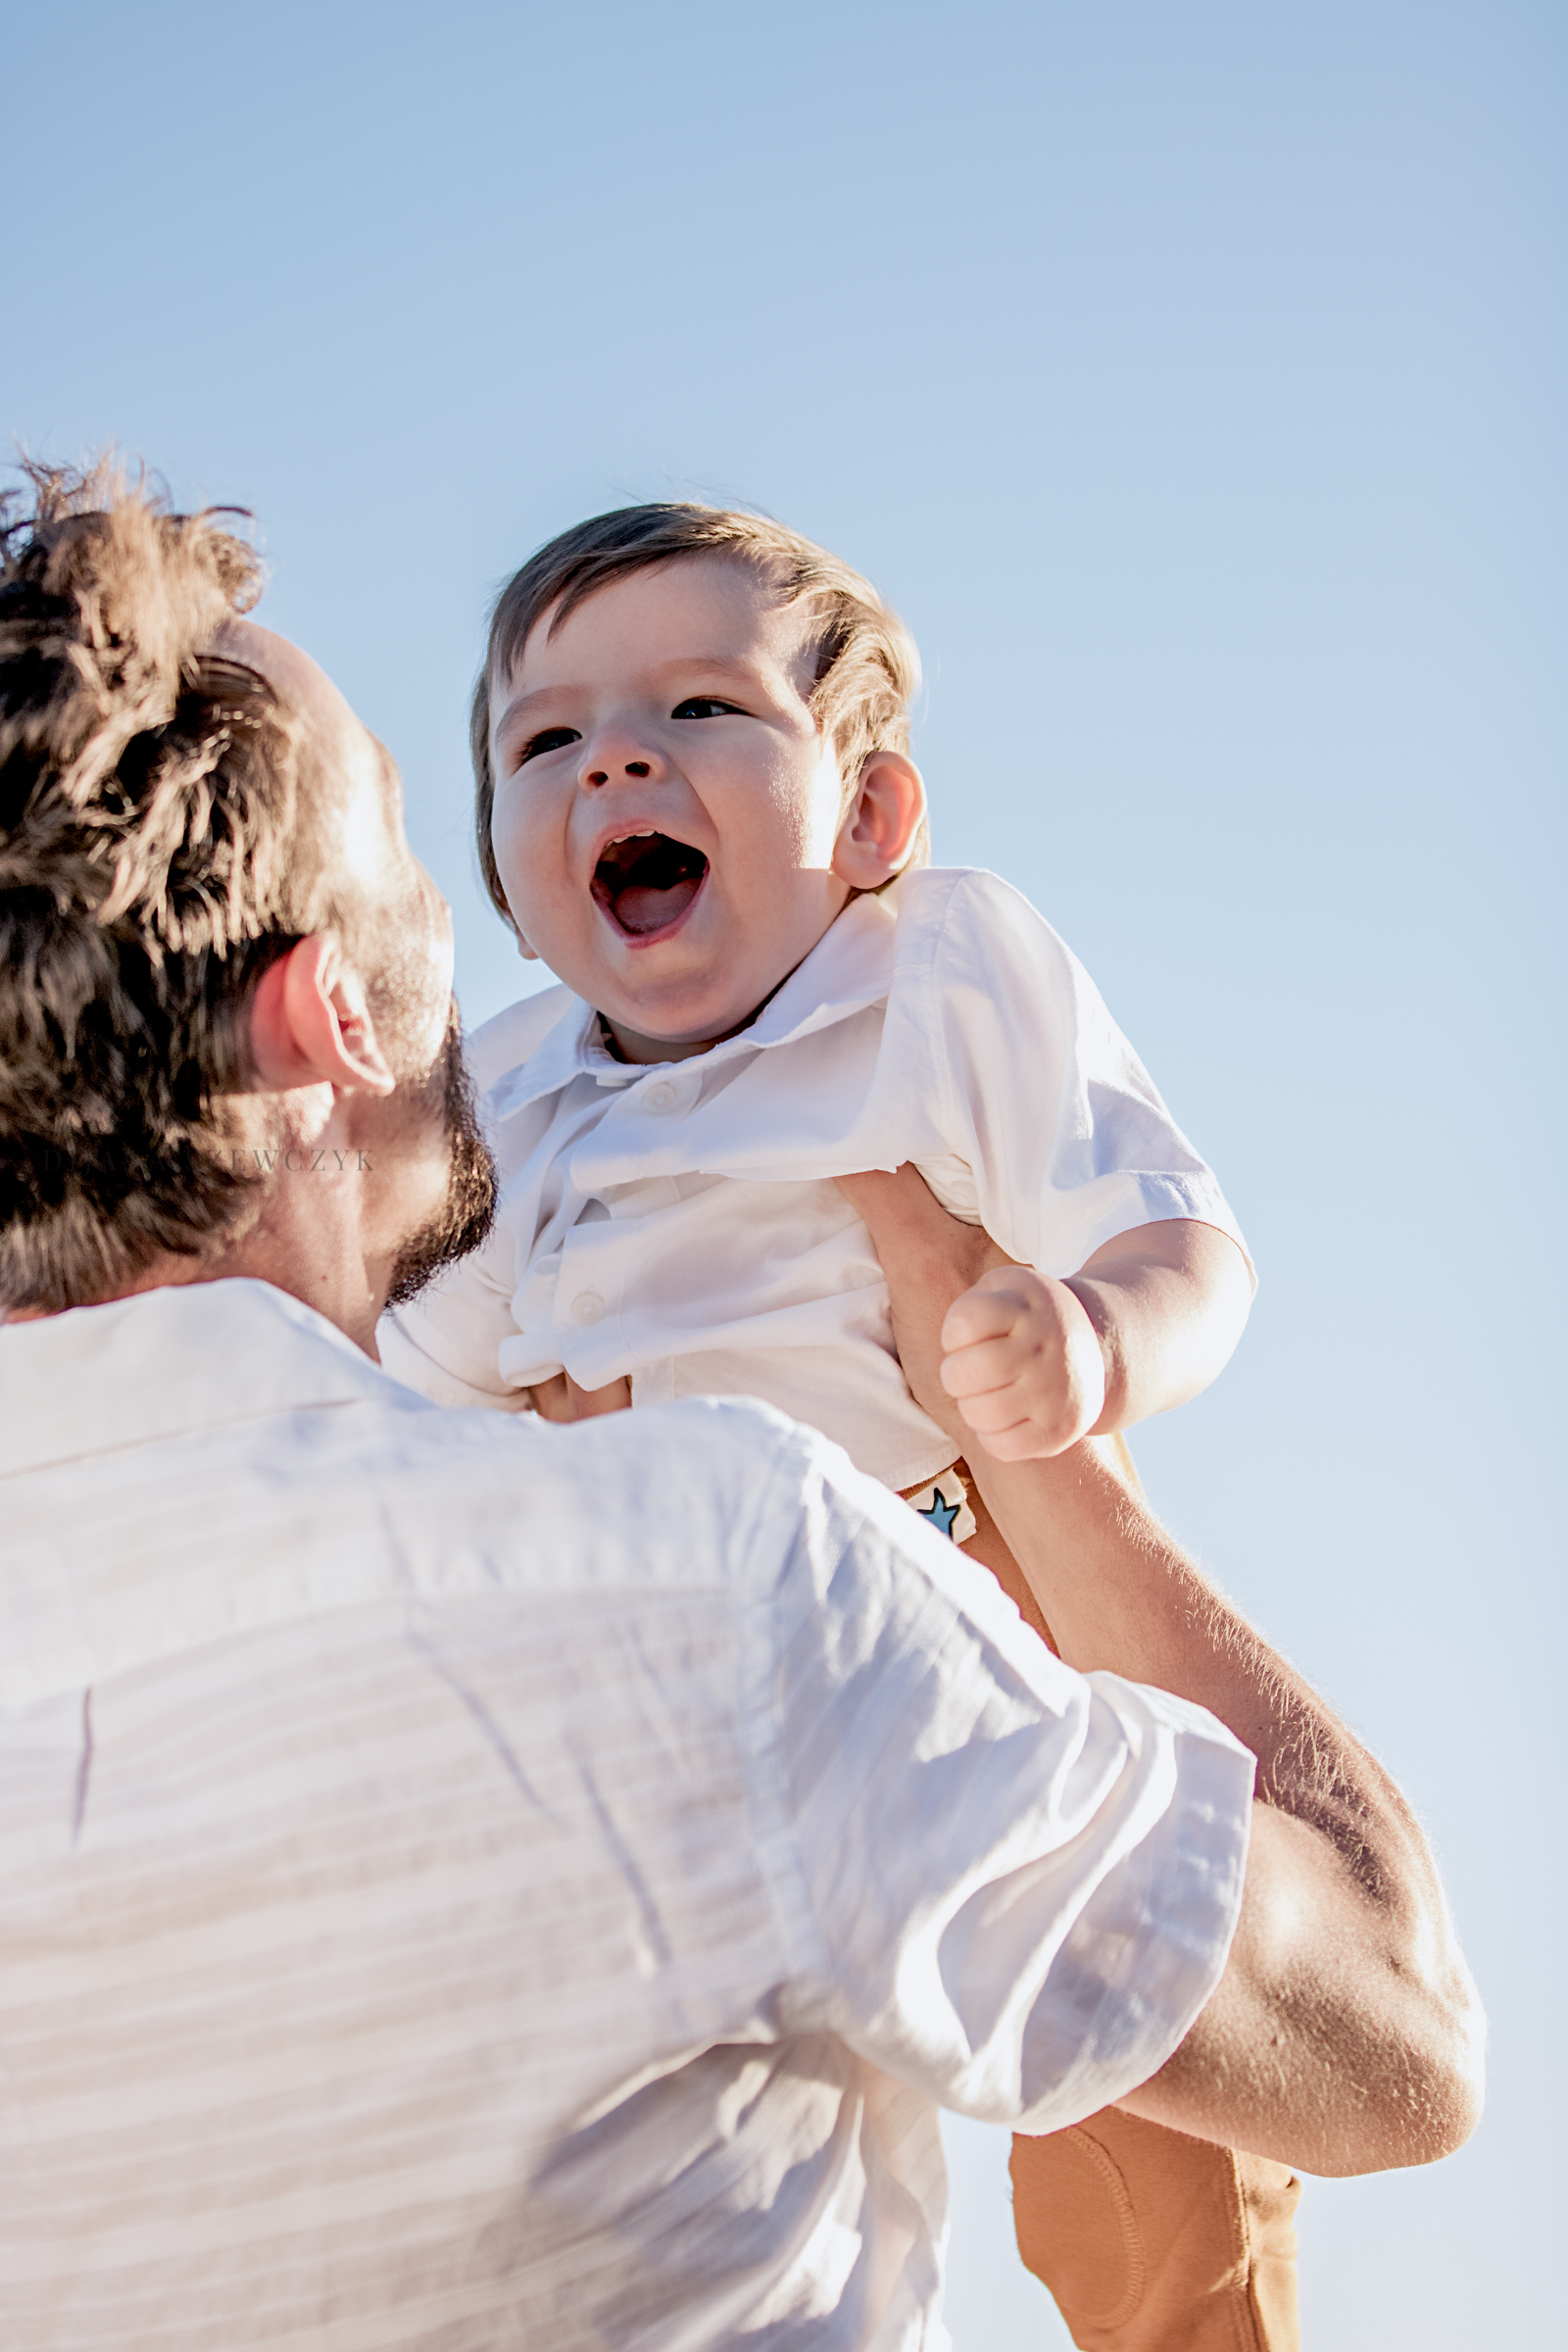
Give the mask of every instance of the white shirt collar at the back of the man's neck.
[[270, 1282], [186, 1282], [0, 1329], [0, 1477], [393, 1385]]

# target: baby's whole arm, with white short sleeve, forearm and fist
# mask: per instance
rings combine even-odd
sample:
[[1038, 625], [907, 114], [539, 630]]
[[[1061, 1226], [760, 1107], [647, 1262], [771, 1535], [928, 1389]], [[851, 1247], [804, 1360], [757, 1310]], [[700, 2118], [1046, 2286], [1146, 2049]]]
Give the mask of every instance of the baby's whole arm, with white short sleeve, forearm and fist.
[[[933, 877], [926, 898], [940, 936], [889, 1023], [898, 1009], [912, 1068], [933, 1040], [940, 1131], [976, 1185], [959, 1214], [1001, 1242], [947, 1315], [943, 1385], [994, 1461], [1039, 1461], [1208, 1388], [1251, 1268], [1211, 1169], [1051, 924], [994, 875]], [[919, 955], [917, 934], [912, 971]]]

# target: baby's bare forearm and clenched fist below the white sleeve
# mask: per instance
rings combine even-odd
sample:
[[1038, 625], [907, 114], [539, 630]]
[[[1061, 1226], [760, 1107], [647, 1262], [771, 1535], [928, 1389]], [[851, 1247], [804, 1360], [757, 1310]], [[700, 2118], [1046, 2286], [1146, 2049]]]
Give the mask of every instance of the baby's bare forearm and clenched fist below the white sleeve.
[[1218, 1225], [1119, 1232], [1065, 1282], [992, 1265], [943, 1322], [943, 1388], [997, 1461], [1065, 1454], [1208, 1388], [1253, 1301]]

